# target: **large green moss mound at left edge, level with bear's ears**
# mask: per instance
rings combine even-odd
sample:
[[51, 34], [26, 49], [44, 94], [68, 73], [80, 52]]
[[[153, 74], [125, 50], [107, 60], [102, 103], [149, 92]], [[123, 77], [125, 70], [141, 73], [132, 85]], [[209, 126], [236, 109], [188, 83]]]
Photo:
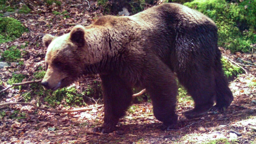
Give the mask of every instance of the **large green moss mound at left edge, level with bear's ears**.
[[0, 44], [20, 37], [28, 31], [20, 21], [10, 17], [0, 17]]

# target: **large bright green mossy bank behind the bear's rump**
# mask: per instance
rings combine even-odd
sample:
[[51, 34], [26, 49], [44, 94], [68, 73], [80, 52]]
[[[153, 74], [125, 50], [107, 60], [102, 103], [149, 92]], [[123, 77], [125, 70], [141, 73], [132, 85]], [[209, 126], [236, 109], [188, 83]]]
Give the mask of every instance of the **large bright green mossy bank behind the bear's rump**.
[[[236, 2], [236, 3], [232, 3]], [[218, 26], [218, 45], [231, 52], [251, 52], [256, 43], [256, 1], [195, 0], [184, 5], [210, 17]]]

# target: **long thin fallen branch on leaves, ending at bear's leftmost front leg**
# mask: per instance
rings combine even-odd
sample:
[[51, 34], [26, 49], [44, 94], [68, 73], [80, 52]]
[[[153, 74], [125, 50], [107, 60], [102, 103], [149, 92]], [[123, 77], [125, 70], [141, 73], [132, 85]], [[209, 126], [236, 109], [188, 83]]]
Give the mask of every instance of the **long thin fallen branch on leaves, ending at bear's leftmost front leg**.
[[[49, 112], [56, 112], [56, 113], [88, 111], [88, 110], [93, 109], [93, 108], [81, 108], [81, 109], [72, 109], [72, 110], [52, 110], [52, 109], [48, 109], [48, 108], [38, 107], [37, 105], [35, 105], [31, 102], [5, 102], [3, 104], [0, 104], [0, 107], [1, 106], [6, 106], [6, 105], [30, 105], [30, 106], [34, 106], [34, 107], [36, 107], [37, 109], [40, 109], [40, 110], [49, 111]], [[103, 106], [104, 105], [99, 105], [99, 106], [97, 106], [97, 108], [101, 108]]]

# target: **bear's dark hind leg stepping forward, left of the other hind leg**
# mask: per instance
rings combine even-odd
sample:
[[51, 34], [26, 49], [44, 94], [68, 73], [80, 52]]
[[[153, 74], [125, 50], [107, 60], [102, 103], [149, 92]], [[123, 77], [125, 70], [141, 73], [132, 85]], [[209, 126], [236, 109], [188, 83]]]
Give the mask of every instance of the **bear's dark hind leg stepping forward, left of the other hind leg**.
[[[192, 74], [191, 74], [192, 73]], [[177, 73], [179, 82], [187, 89], [194, 100], [194, 109], [184, 112], [188, 118], [201, 117], [208, 113], [214, 104], [215, 85], [212, 69]]]

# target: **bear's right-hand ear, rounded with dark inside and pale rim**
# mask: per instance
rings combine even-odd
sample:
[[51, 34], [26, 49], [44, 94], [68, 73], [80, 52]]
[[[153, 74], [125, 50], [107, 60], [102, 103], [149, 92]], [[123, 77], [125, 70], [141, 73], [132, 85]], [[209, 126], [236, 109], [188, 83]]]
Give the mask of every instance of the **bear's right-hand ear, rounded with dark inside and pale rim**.
[[84, 33], [84, 27], [77, 25], [73, 27], [70, 32], [70, 40], [78, 46], [82, 47], [85, 45]]

